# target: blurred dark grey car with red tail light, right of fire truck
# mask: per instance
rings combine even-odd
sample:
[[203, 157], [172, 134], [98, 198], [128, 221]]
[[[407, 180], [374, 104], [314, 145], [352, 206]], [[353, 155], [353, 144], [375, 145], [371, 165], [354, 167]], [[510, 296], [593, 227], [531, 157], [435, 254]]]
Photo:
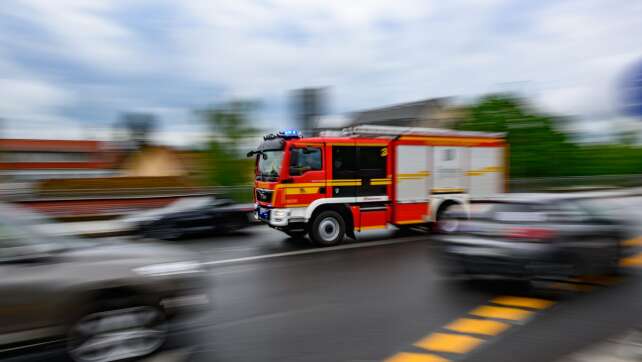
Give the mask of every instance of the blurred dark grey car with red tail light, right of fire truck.
[[442, 236], [451, 273], [530, 279], [618, 271], [630, 225], [607, 200], [563, 194], [506, 194], [449, 212], [457, 231]]

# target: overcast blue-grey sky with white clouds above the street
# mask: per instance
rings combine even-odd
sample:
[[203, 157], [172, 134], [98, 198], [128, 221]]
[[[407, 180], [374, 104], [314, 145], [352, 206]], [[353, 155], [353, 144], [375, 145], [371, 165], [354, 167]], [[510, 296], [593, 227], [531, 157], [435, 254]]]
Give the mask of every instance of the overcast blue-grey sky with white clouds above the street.
[[333, 114], [513, 90], [603, 120], [640, 39], [637, 0], [4, 0], [0, 117], [7, 136], [106, 137], [149, 111], [188, 144], [195, 108], [256, 98], [275, 128], [289, 90], [329, 86]]

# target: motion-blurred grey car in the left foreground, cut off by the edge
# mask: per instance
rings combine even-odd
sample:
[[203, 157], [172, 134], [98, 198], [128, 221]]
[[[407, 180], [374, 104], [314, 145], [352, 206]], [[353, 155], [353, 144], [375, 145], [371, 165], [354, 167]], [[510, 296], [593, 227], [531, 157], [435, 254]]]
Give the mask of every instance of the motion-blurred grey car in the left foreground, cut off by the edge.
[[208, 307], [195, 255], [52, 236], [46, 222], [0, 204], [0, 352], [57, 342], [76, 361], [138, 358]]

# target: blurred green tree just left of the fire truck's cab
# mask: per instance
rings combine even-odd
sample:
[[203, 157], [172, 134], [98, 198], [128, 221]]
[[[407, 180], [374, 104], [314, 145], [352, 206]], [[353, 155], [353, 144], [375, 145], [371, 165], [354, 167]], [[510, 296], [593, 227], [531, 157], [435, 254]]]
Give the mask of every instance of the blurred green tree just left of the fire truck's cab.
[[[253, 138], [257, 129], [251, 126], [253, 101], [232, 101], [197, 111], [210, 129], [207, 149], [207, 182], [214, 186], [242, 186], [252, 182], [254, 163], [242, 153], [244, 141]], [[243, 190], [228, 196], [247, 201], [252, 195]]]

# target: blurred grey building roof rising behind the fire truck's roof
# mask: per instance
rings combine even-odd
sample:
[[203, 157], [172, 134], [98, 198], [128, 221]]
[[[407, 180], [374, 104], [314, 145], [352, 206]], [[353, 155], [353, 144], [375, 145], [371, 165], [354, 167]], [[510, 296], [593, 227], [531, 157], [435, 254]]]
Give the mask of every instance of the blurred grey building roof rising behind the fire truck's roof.
[[362, 124], [402, 127], [453, 128], [463, 112], [448, 98], [433, 98], [374, 108], [353, 114], [350, 126]]

